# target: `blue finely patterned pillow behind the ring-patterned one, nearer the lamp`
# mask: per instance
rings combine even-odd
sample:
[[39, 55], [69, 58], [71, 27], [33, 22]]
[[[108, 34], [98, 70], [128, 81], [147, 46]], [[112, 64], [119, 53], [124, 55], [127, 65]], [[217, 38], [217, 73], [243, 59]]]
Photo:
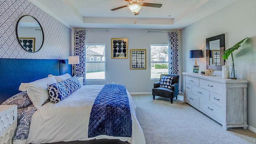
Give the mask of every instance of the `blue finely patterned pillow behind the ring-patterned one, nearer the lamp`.
[[76, 76], [63, 80], [61, 82], [65, 85], [68, 96], [76, 90], [78, 90], [79, 88], [81, 88], [80, 82]]

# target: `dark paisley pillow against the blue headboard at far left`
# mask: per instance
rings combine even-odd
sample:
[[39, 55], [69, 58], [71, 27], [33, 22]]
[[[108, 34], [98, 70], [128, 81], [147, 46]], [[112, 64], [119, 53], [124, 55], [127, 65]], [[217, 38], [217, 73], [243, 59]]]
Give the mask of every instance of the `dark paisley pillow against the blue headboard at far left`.
[[30, 104], [32, 104], [32, 102], [28, 98], [27, 92], [15, 94], [2, 103], [2, 105], [17, 105], [17, 108], [26, 108]]

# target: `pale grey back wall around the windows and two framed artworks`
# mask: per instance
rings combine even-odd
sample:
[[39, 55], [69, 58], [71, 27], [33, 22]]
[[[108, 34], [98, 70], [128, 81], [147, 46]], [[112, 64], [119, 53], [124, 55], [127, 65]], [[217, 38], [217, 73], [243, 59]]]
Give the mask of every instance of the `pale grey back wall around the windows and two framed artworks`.
[[[111, 58], [111, 38], [128, 38], [128, 59]], [[150, 80], [150, 44], [168, 44], [168, 42], [168, 32], [148, 33], [145, 29], [86, 31], [87, 44], [106, 44], [106, 80], [87, 80], [86, 84], [115, 82], [115, 84], [124, 84], [129, 92], [151, 93], [153, 83], [157, 80]], [[146, 70], [130, 70], [130, 49], [146, 49]]]

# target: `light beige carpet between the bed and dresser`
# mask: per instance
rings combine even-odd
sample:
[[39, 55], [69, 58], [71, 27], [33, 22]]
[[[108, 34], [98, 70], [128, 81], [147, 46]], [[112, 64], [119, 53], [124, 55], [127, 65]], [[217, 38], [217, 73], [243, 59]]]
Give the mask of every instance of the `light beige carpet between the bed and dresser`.
[[132, 95], [146, 144], [256, 144], [256, 133], [222, 125], [178, 100]]

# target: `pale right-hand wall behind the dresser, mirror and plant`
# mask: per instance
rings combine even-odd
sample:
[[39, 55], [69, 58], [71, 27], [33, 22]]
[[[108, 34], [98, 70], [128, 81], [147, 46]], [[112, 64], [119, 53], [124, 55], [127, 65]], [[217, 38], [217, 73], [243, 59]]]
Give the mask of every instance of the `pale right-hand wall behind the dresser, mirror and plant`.
[[[206, 38], [225, 34], [226, 49], [240, 40], [250, 37], [242, 47], [234, 51], [238, 78], [247, 79], [247, 112], [249, 129], [256, 132], [256, 0], [238, 0], [206, 18], [182, 29], [182, 72], [192, 72], [194, 61], [189, 50], [202, 49], [204, 58], [199, 58], [200, 70], [206, 70]], [[226, 60], [232, 63], [231, 56]], [[217, 71], [221, 76], [222, 72]], [[183, 88], [182, 88], [183, 90]]]

